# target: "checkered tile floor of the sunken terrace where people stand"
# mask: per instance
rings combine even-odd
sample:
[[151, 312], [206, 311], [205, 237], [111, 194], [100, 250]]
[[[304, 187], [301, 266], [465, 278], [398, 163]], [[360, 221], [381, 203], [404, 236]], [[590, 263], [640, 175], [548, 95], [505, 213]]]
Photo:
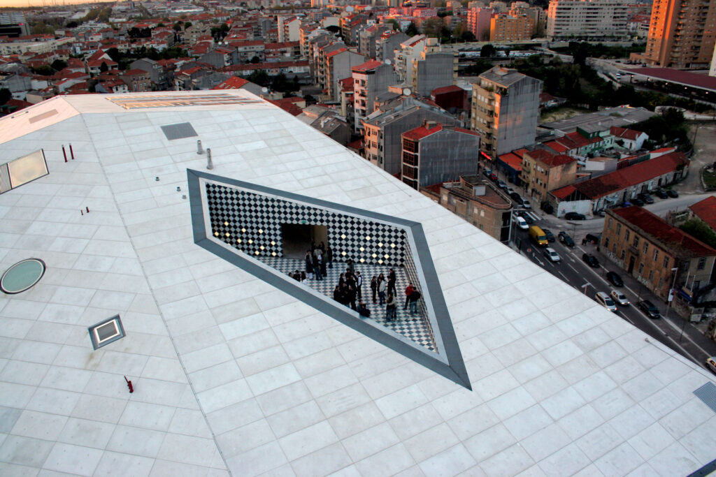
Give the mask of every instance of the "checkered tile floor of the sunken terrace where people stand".
[[[294, 272], [295, 270], [305, 271], [306, 265], [304, 260], [296, 260], [294, 258], [284, 257], [256, 257], [261, 260], [269, 267], [276, 270], [280, 270], [283, 273]], [[346, 270], [345, 264], [341, 262], [334, 262], [333, 268], [326, 269], [328, 275], [323, 277], [323, 280], [306, 280], [304, 285], [308, 285], [314, 290], [318, 290], [323, 295], [333, 298], [333, 290], [338, 285], [339, 276], [341, 272]], [[420, 312], [410, 314], [410, 308], [403, 310], [405, 304], [405, 287], [407, 287], [408, 279], [405, 271], [401, 267], [393, 267], [395, 270], [396, 283], [395, 288], [397, 290], [397, 319], [395, 321], [385, 320], [385, 306], [373, 303], [370, 280], [373, 275], [383, 274], [385, 277], [388, 275], [388, 267], [381, 267], [379, 265], [360, 265], [356, 267], [356, 271], [361, 272], [363, 277], [362, 286], [362, 297], [366, 303], [367, 308], [371, 311], [370, 320], [375, 320], [377, 323], [390, 328], [395, 333], [415, 341], [415, 343], [424, 346], [429, 350], [435, 350], [435, 342], [432, 339], [430, 329], [427, 328], [425, 318], [420, 315]], [[377, 298], [377, 297], [376, 297]], [[358, 314], [356, 313], [356, 317]]]

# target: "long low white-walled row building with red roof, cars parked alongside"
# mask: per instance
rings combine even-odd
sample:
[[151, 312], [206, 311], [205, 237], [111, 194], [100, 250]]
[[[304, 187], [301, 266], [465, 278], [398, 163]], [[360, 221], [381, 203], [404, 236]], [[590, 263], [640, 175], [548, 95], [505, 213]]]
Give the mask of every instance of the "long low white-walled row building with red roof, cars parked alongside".
[[549, 201], [558, 217], [566, 212], [592, 214], [626, 202], [639, 193], [673, 184], [686, 177], [688, 170], [689, 159], [683, 152], [669, 152], [553, 190]]

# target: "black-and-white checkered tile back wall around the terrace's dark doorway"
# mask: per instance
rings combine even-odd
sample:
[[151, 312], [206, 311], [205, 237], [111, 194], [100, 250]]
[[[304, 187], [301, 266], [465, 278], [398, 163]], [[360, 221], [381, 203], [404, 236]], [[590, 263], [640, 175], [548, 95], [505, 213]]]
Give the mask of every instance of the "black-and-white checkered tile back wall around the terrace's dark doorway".
[[248, 255], [283, 256], [281, 224], [326, 225], [334, 260], [415, 270], [400, 227], [212, 182], [206, 197], [213, 235]]

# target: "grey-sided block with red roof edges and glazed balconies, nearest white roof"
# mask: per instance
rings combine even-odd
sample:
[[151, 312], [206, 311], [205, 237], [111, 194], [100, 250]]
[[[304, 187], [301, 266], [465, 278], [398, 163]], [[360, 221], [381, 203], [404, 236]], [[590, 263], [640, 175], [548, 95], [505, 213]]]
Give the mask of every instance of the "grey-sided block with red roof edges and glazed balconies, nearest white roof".
[[425, 121], [402, 133], [402, 182], [415, 190], [477, 174], [480, 134]]

